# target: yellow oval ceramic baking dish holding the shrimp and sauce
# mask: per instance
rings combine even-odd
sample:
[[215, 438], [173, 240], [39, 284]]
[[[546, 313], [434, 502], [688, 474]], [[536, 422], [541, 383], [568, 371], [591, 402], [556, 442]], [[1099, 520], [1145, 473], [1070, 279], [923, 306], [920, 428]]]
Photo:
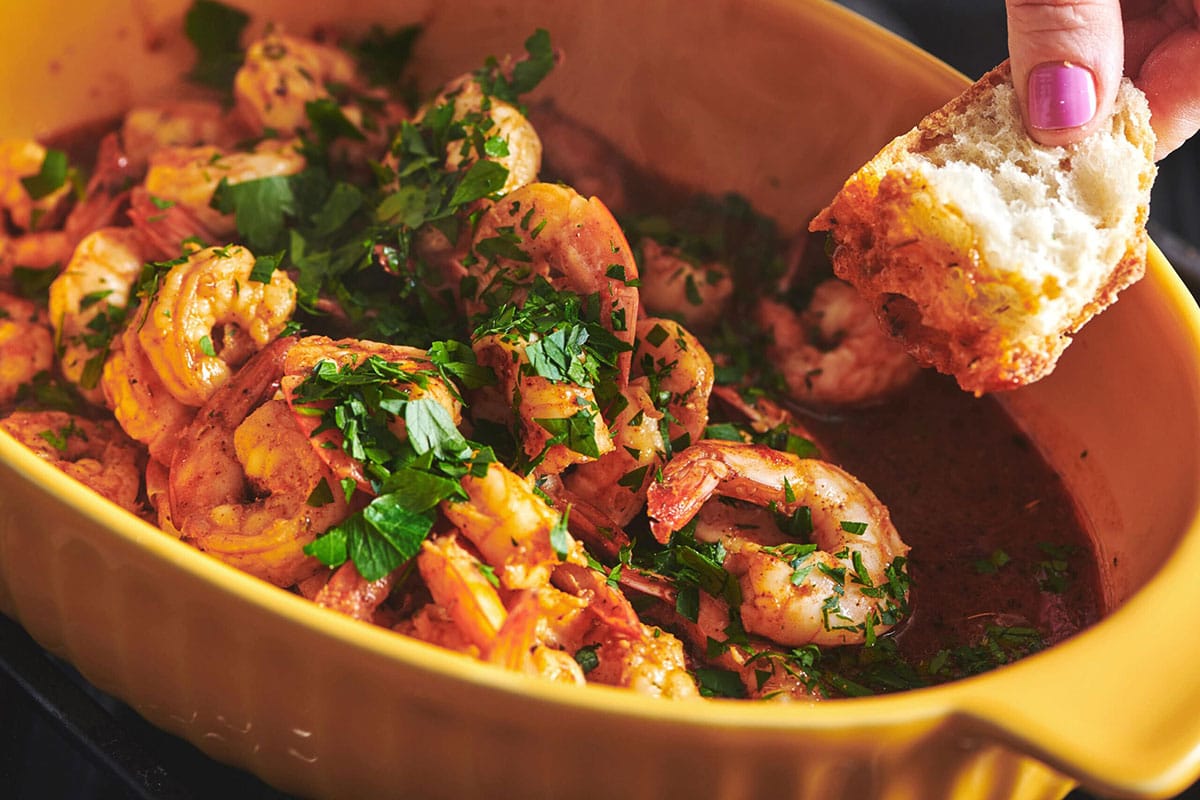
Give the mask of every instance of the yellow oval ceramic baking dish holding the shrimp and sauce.
[[[8, 4], [0, 136], [169, 95], [185, 0]], [[296, 31], [424, 22], [427, 86], [520, 52], [636, 160], [791, 229], [965, 82], [794, 0], [241, 4]], [[1007, 398], [1098, 539], [1116, 609], [983, 676], [814, 706], [649, 702], [500, 672], [314, 608], [174, 541], [0, 439], [0, 609], [101, 688], [304, 795], [1164, 796], [1200, 775], [1200, 312], [1156, 252], [1045, 381]], [[1081, 458], [1086, 451], [1087, 457]]]

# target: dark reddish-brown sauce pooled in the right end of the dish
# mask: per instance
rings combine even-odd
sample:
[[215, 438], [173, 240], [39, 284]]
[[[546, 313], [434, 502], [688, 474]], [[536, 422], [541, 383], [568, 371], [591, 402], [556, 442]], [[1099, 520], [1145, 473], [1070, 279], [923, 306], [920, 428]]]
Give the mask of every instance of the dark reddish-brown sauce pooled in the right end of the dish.
[[923, 372], [886, 404], [806, 420], [832, 459], [888, 506], [908, 553], [910, 660], [989, 626], [1050, 645], [1104, 612], [1094, 547], [1057, 474], [990, 397]]

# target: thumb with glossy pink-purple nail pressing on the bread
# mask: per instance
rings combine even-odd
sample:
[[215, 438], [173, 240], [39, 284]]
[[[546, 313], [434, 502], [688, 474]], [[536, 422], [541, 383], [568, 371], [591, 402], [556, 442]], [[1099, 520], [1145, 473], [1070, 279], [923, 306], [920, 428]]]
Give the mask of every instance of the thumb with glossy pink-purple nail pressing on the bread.
[[1013, 85], [1030, 136], [1070, 144], [1112, 113], [1124, 36], [1120, 0], [1007, 0]]

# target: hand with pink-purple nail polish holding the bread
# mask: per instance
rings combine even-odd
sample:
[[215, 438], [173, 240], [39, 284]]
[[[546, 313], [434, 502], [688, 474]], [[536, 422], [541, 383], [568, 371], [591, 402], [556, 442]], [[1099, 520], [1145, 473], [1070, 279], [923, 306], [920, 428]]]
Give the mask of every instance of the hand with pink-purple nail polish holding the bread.
[[1069, 144], [1109, 118], [1122, 73], [1146, 92], [1163, 158], [1200, 130], [1200, 0], [1007, 0], [1030, 136]]

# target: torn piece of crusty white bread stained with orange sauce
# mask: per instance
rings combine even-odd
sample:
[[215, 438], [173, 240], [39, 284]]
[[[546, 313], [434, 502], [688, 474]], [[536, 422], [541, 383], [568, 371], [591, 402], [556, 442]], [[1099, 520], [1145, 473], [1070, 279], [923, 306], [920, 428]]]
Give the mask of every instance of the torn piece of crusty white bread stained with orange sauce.
[[922, 363], [974, 393], [1046, 375], [1072, 336], [1145, 272], [1154, 133], [1123, 79], [1111, 122], [1048, 148], [1008, 64], [898, 137], [809, 229]]

